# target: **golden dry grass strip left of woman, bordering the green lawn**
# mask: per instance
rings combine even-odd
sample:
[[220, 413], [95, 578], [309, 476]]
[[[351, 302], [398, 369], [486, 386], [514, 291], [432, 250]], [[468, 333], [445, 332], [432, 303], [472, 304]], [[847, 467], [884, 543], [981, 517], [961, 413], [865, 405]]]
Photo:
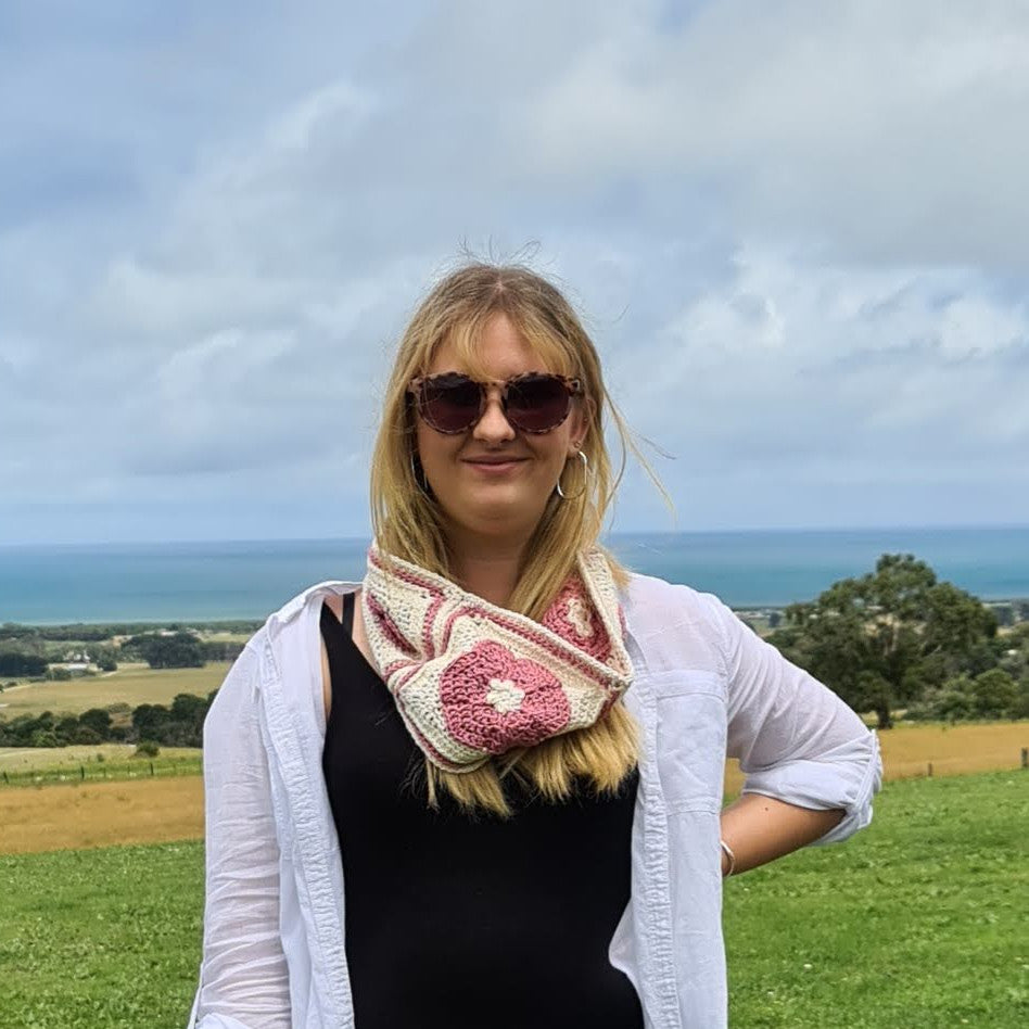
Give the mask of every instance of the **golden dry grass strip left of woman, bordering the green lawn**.
[[199, 775], [0, 789], [0, 853], [160, 843], [204, 835]]

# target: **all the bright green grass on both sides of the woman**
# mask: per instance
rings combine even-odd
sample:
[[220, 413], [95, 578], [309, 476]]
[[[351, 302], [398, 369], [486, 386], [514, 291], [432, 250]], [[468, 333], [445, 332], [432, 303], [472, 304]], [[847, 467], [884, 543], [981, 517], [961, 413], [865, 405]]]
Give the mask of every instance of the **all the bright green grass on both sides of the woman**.
[[[734, 1029], [1029, 1021], [1029, 773], [886, 786], [873, 826], [726, 884]], [[0, 856], [2, 1022], [182, 1026], [203, 846]]]

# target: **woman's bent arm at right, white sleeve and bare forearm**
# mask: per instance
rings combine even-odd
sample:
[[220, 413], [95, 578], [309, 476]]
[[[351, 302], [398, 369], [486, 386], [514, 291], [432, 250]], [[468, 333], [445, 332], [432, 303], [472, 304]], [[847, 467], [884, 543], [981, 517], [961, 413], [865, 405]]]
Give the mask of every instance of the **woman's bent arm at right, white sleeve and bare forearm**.
[[[863, 828], [882, 774], [875, 735], [721, 601], [709, 602], [728, 675], [727, 752], [747, 776], [742, 796], [722, 812], [735, 871]], [[723, 854], [723, 873], [727, 866]]]

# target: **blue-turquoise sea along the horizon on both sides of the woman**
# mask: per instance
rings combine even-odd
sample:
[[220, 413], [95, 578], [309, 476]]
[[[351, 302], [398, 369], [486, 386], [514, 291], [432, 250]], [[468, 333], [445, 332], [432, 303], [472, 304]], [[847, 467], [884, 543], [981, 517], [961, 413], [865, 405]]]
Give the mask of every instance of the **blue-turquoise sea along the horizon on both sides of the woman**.
[[[984, 600], [1029, 597], [1029, 528], [615, 536], [635, 571], [733, 607], [808, 600], [884, 552], [914, 554]], [[259, 619], [325, 579], [359, 579], [365, 541], [0, 547], [0, 622]]]

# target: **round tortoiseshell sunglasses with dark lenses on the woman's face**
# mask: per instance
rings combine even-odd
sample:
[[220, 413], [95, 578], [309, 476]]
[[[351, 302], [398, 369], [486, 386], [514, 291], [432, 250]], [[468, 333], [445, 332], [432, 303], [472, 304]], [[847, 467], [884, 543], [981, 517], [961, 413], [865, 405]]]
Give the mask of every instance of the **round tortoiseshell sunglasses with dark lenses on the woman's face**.
[[[572, 397], [583, 392], [580, 379], [530, 371], [513, 376], [500, 386], [504, 417], [521, 432], [549, 432], [568, 418]], [[418, 414], [436, 432], [467, 432], [486, 410], [490, 383], [477, 382], [458, 371], [415, 379], [408, 386]]]

